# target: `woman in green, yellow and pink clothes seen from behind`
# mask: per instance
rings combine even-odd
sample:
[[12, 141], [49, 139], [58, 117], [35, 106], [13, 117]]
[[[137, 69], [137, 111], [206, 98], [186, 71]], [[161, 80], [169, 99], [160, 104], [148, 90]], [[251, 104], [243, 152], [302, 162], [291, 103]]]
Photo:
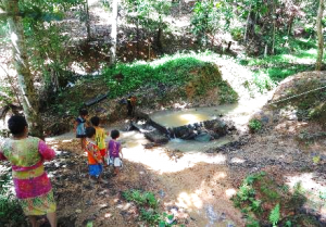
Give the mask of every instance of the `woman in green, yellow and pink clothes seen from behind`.
[[8, 121], [12, 138], [3, 139], [0, 160], [12, 165], [12, 178], [20, 204], [32, 226], [37, 226], [36, 216], [47, 215], [51, 227], [57, 226], [57, 205], [52, 186], [43, 162], [55, 156], [45, 141], [28, 137], [28, 126], [24, 116], [12, 116]]

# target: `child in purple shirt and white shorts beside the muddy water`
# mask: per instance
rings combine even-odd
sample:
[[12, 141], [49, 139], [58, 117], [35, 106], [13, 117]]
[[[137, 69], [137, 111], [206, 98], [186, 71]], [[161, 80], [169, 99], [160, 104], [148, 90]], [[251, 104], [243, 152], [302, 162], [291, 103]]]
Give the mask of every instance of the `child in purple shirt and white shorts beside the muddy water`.
[[123, 159], [121, 143], [116, 141], [118, 136], [120, 136], [118, 130], [112, 130], [111, 131], [112, 139], [110, 140], [108, 146], [108, 150], [110, 154], [108, 164], [114, 166], [114, 176], [118, 174], [118, 167], [122, 167], [122, 159]]

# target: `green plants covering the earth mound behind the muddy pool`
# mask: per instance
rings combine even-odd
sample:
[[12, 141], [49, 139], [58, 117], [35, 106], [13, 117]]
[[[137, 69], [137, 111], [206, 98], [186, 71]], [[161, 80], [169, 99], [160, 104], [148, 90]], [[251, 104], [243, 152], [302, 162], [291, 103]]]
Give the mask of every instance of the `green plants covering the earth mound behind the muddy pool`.
[[103, 71], [112, 98], [124, 96], [143, 86], [184, 86], [195, 84], [196, 94], [218, 87], [222, 102], [235, 102], [237, 93], [222, 80], [218, 68], [193, 56], [166, 56], [145, 63], [116, 64]]

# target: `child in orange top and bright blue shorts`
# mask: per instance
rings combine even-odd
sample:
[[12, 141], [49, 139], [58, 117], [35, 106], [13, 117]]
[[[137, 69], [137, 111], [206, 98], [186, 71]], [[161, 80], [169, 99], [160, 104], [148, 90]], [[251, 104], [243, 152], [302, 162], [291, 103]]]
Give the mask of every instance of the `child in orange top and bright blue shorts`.
[[101, 178], [103, 172], [102, 156], [98, 146], [96, 144], [96, 129], [93, 127], [86, 128], [86, 152], [88, 155], [88, 169], [91, 179], [98, 179], [99, 182], [104, 182]]

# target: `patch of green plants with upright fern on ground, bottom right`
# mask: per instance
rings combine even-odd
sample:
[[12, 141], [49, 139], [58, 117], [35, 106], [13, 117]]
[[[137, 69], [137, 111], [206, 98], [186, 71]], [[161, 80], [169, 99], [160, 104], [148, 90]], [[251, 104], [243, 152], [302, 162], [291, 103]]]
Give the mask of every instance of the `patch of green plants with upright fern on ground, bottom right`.
[[290, 192], [287, 185], [261, 172], [249, 175], [231, 200], [244, 214], [248, 227], [319, 226], [315, 217], [297, 212], [306, 201], [303, 192], [300, 184]]

